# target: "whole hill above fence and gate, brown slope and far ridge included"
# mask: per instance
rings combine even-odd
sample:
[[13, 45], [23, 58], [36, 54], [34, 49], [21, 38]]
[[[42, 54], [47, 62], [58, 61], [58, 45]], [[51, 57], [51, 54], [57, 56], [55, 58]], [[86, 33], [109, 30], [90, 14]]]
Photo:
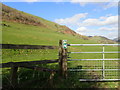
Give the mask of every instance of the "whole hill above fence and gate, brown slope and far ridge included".
[[4, 44], [58, 45], [60, 39], [75, 43], [114, 43], [100, 36], [80, 35], [65, 25], [45, 20], [2, 4]]

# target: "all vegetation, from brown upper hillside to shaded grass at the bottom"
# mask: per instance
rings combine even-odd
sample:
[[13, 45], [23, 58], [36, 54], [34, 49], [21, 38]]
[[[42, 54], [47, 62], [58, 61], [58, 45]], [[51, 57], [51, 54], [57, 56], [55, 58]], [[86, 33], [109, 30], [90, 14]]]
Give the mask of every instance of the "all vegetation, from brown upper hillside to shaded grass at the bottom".
[[[3, 5], [2, 8], [2, 44], [27, 44], [27, 45], [52, 45], [58, 46], [59, 40], [66, 39], [68, 43], [116, 43], [103, 37], [86, 37], [79, 35], [66, 26], [58, 25], [54, 22], [47, 21], [43, 18], [27, 14], [22, 11]], [[69, 51], [102, 51], [102, 47], [69, 47]], [[105, 51], [118, 51], [118, 47], [105, 47]], [[71, 59], [85, 58], [102, 58], [101, 54], [70, 54]], [[106, 54], [105, 58], [117, 58], [118, 54]], [[29, 49], [3, 49], [2, 63], [20, 62], [20, 61], [36, 61], [58, 59], [58, 49], [54, 50], [29, 50]], [[94, 63], [94, 64], [93, 64]], [[100, 68], [102, 62], [86, 62], [73, 61], [68, 62], [69, 68]], [[114, 64], [111, 64], [114, 63]], [[116, 64], [115, 64], [116, 63]], [[105, 62], [107, 67], [111, 65], [117, 67], [119, 62]], [[40, 67], [58, 69], [58, 64], [39, 65]], [[10, 68], [3, 69], [3, 86], [8, 88], [10, 85]], [[80, 82], [81, 76], [94, 77], [100, 72], [93, 72], [88, 76], [89, 72], [69, 72], [66, 80], [55, 74], [53, 85], [49, 85], [48, 72], [38, 72], [29, 69], [19, 68], [18, 83], [20, 87], [28, 88], [117, 88], [119, 82]], [[116, 73], [113, 73], [117, 76]], [[108, 76], [109, 77], [109, 76]], [[114, 78], [114, 77], [113, 77]], [[26, 84], [22, 84], [27, 80], [31, 80]], [[34, 80], [34, 81], [33, 81]], [[27, 87], [26, 87], [27, 88]]]

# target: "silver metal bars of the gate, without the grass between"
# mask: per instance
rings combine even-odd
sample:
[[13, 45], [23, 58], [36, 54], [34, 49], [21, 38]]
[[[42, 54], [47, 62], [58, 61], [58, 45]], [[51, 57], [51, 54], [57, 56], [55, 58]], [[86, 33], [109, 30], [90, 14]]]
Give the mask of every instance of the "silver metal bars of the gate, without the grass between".
[[[67, 44], [67, 46], [103, 46], [102, 48], [102, 52], [68, 52], [68, 53], [71, 53], [71, 54], [82, 54], [82, 53], [93, 53], [93, 54], [102, 54], [102, 59], [68, 59], [69, 61], [102, 61], [102, 65], [101, 65], [101, 69], [69, 69], [69, 71], [102, 71], [102, 79], [99, 79], [99, 78], [96, 78], [96, 79], [88, 79], [88, 78], [84, 78], [84, 79], [80, 79], [80, 81], [120, 81], [120, 78], [119, 78], [119, 71], [120, 71], [120, 68], [119, 66], [117, 66], [116, 69], [112, 68], [106, 68], [106, 64], [105, 62], [110, 62], [109, 64], [114, 64], [114, 61], [116, 61], [116, 63], [118, 63], [119, 65], [119, 58], [113, 58], [113, 59], [105, 59], [105, 54], [111, 54], [111, 53], [120, 53], [118, 51], [114, 51], [114, 52], [105, 52], [105, 47], [104, 46], [120, 46], [120, 44]], [[94, 64], [94, 63], [93, 63]], [[109, 71], [116, 71], [117, 72], [117, 76], [118, 78], [117, 79], [106, 79], [106, 71], [109, 72]]]

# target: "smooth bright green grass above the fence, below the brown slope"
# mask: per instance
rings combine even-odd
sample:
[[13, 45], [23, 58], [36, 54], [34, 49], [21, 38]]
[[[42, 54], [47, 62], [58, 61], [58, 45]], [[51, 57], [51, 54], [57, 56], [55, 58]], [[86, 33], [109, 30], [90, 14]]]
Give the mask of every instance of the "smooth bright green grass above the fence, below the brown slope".
[[57, 46], [60, 39], [66, 39], [69, 41], [69, 43], [97, 43], [92, 40], [83, 40], [77, 36], [63, 34], [40, 26], [18, 24], [13, 22], [3, 23], [10, 25], [10, 27], [3, 27], [3, 44], [32, 44]]

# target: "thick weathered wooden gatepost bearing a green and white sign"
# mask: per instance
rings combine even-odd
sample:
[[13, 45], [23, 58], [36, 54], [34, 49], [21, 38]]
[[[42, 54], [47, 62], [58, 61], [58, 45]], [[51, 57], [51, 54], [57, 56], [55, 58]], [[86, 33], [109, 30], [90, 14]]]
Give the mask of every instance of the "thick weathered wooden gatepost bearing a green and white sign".
[[61, 77], [67, 77], [67, 40], [59, 41], [59, 73]]

